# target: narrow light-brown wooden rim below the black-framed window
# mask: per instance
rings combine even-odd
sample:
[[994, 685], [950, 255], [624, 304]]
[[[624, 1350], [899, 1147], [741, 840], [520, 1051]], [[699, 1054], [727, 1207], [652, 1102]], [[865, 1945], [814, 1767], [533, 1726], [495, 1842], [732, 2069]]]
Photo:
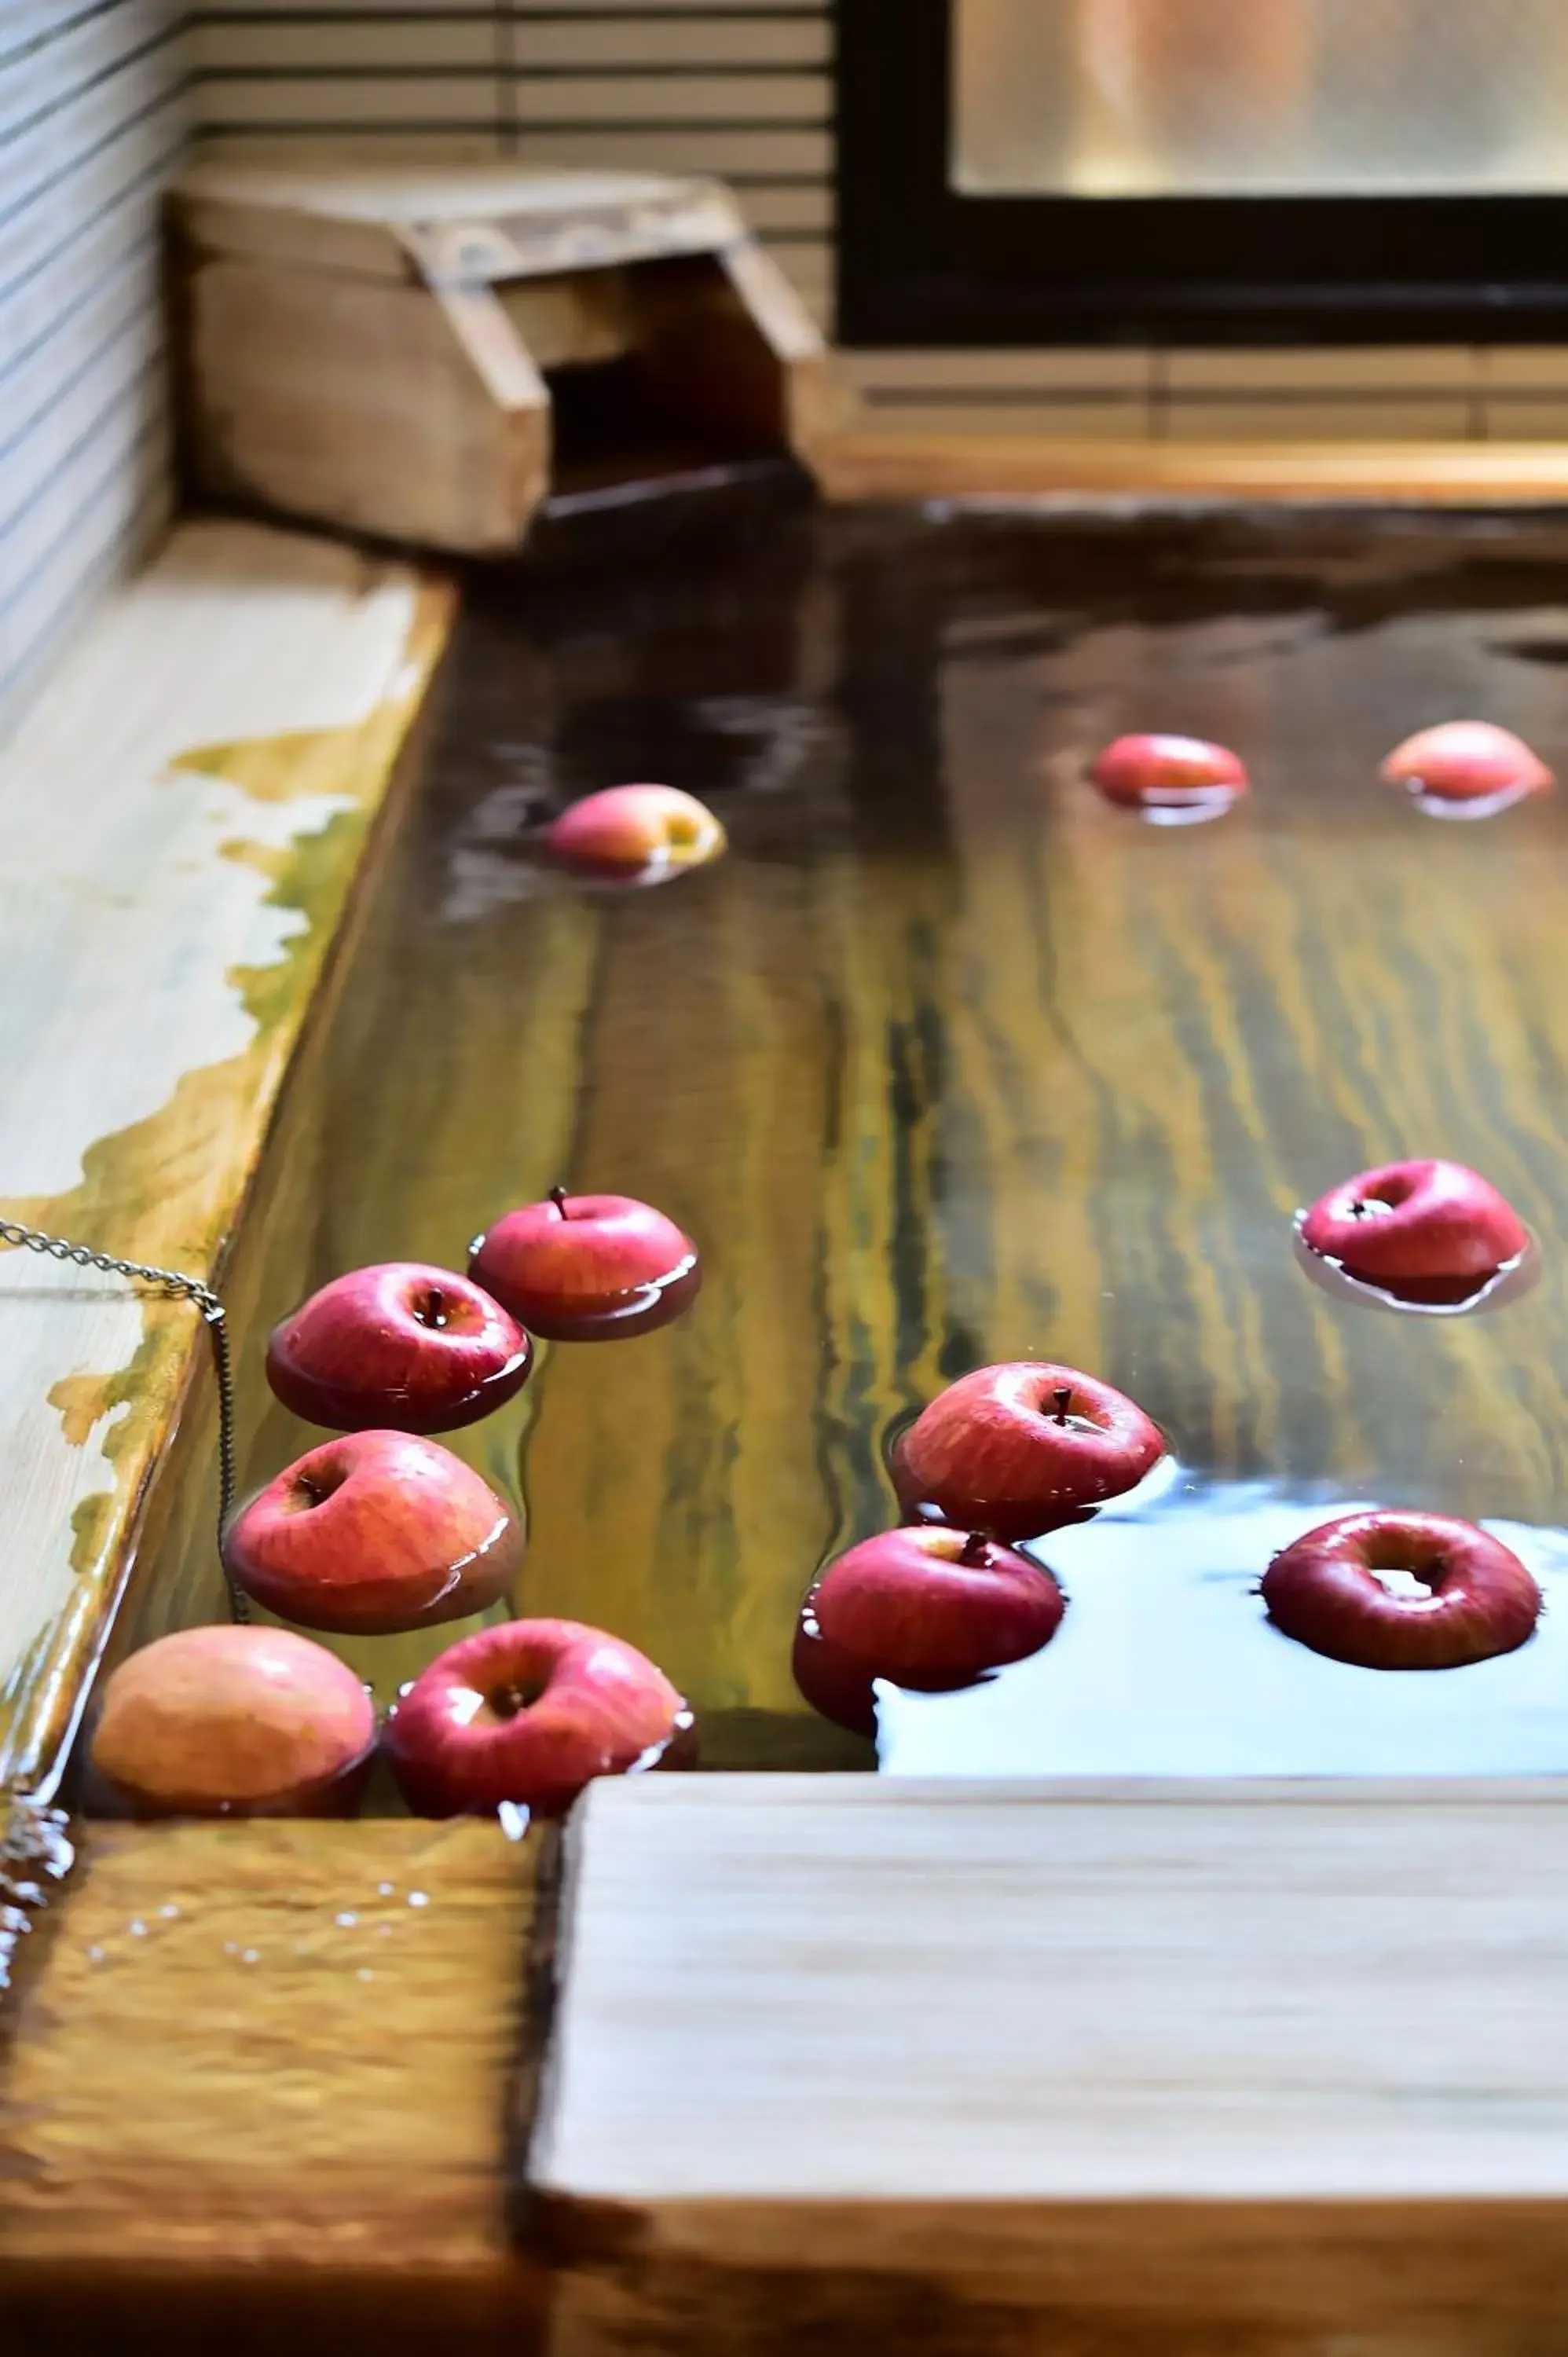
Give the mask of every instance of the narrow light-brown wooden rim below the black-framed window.
[[832, 500], [1214, 497], [1497, 507], [1568, 497], [1568, 443], [1118, 443], [854, 429], [821, 453]]

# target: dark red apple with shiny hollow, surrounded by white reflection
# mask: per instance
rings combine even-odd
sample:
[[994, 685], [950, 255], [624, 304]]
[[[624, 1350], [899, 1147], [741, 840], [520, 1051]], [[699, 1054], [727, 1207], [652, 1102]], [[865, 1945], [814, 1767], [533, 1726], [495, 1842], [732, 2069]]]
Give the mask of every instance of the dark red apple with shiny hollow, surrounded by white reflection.
[[[1379, 1572], [1415, 1589], [1394, 1591]], [[1294, 1539], [1264, 1572], [1269, 1619], [1358, 1669], [1460, 1669], [1514, 1652], [1540, 1589], [1500, 1539], [1445, 1513], [1346, 1513]]]

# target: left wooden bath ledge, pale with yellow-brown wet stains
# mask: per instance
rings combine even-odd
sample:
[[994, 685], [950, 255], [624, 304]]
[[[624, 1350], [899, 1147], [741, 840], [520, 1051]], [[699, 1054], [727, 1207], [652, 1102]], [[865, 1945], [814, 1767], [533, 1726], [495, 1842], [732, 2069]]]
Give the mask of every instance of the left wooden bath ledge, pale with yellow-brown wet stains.
[[[0, 759], [0, 1204], [222, 1263], [448, 594], [186, 526]], [[0, 1782], [47, 1784], [205, 1339], [193, 1310], [0, 1259]]]

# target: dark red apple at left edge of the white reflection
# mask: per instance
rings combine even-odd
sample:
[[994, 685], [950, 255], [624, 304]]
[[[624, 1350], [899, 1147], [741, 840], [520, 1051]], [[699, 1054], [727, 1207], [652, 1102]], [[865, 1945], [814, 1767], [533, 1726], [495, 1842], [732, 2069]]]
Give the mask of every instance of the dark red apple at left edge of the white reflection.
[[1056, 1636], [1049, 1572], [983, 1532], [889, 1530], [816, 1579], [795, 1629], [795, 1683], [825, 1718], [875, 1735], [872, 1681], [941, 1695]]

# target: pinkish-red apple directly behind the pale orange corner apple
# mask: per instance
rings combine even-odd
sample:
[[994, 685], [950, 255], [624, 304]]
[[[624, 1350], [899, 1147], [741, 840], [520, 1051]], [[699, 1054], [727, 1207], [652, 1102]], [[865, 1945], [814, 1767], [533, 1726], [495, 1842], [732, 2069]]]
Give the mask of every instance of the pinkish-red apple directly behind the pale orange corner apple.
[[483, 1612], [523, 1560], [512, 1506], [415, 1433], [344, 1433], [285, 1466], [224, 1534], [229, 1577], [269, 1612], [389, 1636]]

